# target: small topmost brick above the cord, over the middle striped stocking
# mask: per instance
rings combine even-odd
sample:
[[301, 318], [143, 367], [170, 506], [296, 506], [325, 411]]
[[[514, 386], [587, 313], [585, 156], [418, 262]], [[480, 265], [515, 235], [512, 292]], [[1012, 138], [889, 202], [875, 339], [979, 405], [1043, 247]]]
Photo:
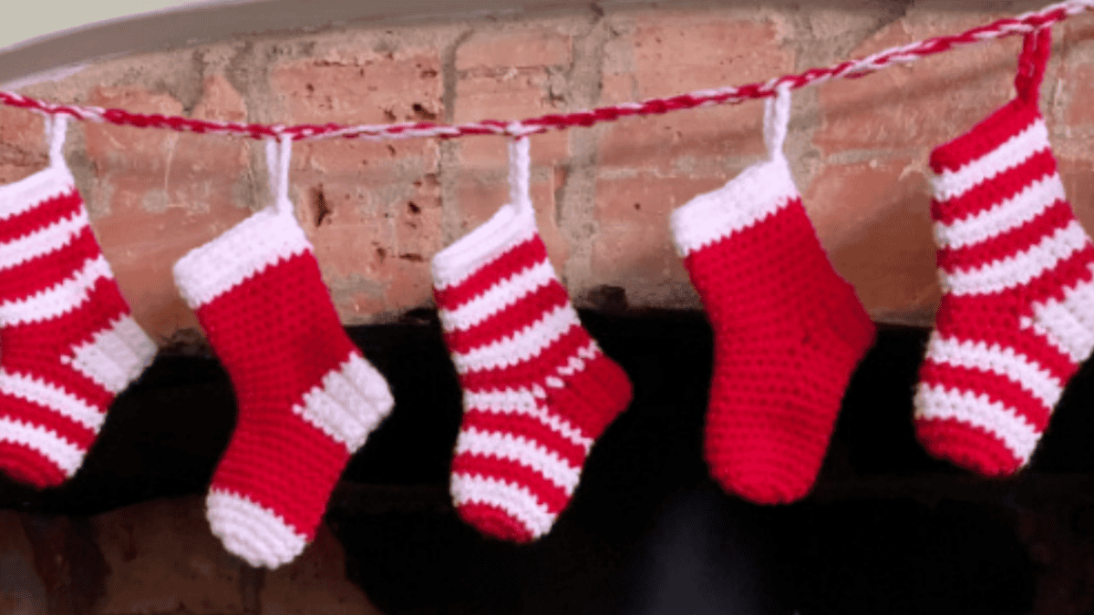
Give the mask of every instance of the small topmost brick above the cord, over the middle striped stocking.
[[550, 27], [479, 28], [456, 50], [456, 70], [568, 66], [570, 36]]

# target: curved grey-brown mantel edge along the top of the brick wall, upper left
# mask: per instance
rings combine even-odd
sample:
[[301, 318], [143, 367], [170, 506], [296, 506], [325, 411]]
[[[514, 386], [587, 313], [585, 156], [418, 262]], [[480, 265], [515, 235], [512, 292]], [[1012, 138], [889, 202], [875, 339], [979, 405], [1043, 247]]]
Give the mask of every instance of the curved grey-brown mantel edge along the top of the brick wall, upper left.
[[[934, 10], [998, 10], [1019, 13], [1046, 2], [1022, 0], [882, 0], [904, 12], [915, 3]], [[870, 0], [225, 0], [110, 20], [34, 38], [0, 50], [0, 86], [38, 81], [35, 76], [93, 60], [254, 36], [288, 35], [346, 27], [547, 16], [639, 7], [830, 5], [854, 10]], [[48, 77], [47, 77], [48, 78]]]

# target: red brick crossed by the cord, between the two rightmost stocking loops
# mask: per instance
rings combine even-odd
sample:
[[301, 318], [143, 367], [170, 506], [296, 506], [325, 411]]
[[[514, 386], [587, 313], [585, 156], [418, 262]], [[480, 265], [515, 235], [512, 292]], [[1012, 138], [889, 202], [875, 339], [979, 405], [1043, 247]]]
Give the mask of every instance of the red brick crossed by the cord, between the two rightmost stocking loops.
[[[886, 25], [848, 56], [962, 32], [992, 19], [986, 13], [913, 13]], [[822, 84], [822, 121], [813, 142], [827, 155], [940, 146], [1013, 97], [1020, 45], [1020, 37], [1010, 37]]]

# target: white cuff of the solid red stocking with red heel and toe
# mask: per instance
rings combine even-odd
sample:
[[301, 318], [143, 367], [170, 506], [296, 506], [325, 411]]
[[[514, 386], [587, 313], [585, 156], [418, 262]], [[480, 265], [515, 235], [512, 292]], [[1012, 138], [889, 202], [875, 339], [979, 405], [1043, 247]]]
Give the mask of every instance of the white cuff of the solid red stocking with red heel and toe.
[[798, 198], [787, 159], [754, 164], [717, 190], [699, 195], [671, 216], [676, 252], [687, 256], [782, 209]]

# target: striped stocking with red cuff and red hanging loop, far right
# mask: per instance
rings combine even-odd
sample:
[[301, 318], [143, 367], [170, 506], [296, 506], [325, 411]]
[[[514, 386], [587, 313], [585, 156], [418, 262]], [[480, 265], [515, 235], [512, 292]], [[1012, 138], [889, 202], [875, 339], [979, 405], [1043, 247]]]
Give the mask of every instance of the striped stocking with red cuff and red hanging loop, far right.
[[1017, 97], [930, 159], [944, 294], [916, 431], [932, 454], [988, 476], [1029, 461], [1094, 347], [1094, 245], [1063, 195], [1037, 104], [1050, 36], [1026, 35]]

